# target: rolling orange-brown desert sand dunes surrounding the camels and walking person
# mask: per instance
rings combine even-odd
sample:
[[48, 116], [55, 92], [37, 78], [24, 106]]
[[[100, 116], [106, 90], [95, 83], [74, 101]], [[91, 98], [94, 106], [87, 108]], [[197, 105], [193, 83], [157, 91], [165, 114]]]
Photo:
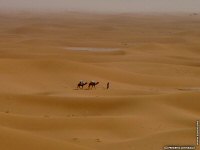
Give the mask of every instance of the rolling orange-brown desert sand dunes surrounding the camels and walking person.
[[196, 145], [200, 15], [1, 13], [0, 35], [1, 150]]

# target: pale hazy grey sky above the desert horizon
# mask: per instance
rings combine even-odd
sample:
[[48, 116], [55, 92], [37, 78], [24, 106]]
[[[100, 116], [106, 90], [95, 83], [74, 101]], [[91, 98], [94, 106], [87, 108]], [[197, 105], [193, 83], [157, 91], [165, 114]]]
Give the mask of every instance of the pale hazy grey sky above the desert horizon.
[[200, 0], [0, 0], [0, 10], [200, 12]]

